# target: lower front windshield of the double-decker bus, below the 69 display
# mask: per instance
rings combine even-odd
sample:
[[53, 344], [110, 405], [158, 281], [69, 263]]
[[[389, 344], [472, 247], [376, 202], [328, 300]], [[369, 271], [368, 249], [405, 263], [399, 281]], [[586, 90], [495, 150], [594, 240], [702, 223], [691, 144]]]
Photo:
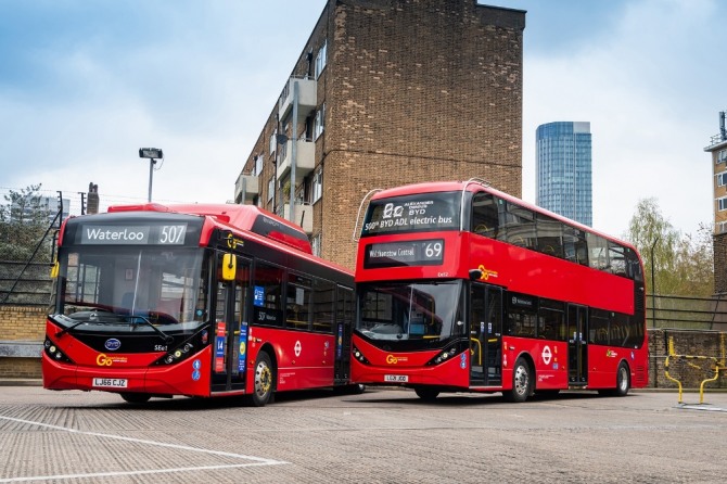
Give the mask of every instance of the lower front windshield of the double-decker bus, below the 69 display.
[[361, 284], [357, 330], [372, 340], [439, 345], [463, 334], [461, 281]]

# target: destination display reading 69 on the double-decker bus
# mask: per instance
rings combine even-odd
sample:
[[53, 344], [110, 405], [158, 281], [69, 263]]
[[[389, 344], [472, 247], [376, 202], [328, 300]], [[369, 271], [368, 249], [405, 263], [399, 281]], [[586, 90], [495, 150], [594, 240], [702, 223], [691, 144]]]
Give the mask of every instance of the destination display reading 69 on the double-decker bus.
[[364, 267], [432, 266], [444, 260], [444, 240], [412, 240], [369, 244]]

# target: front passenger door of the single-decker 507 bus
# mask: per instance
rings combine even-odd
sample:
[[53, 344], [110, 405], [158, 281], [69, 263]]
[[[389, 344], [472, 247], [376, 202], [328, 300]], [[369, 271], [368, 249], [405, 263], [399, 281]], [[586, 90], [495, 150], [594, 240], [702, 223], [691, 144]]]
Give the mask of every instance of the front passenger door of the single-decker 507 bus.
[[247, 356], [250, 263], [238, 256], [234, 281], [217, 282], [212, 391], [244, 389]]

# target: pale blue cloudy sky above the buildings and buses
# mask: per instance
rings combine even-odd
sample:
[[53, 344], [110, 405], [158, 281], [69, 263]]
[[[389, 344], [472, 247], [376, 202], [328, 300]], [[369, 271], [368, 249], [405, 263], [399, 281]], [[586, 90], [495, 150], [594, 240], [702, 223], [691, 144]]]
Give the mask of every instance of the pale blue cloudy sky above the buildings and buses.
[[[482, 2], [482, 1], [481, 1]], [[713, 219], [704, 147], [727, 109], [719, 0], [497, 0], [526, 10], [523, 198], [535, 129], [590, 122], [594, 227], [621, 237], [656, 198]], [[226, 202], [324, 0], [0, 0], [0, 193], [42, 183], [102, 207]], [[74, 201], [74, 203], [76, 203]]]

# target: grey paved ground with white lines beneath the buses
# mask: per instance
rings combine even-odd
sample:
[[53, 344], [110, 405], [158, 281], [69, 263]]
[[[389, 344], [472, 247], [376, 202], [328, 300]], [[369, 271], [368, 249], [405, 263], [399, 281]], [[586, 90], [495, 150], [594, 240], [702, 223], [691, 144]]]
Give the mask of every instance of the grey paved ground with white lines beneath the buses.
[[724, 483], [727, 393], [369, 389], [124, 403], [0, 386], [0, 483]]

